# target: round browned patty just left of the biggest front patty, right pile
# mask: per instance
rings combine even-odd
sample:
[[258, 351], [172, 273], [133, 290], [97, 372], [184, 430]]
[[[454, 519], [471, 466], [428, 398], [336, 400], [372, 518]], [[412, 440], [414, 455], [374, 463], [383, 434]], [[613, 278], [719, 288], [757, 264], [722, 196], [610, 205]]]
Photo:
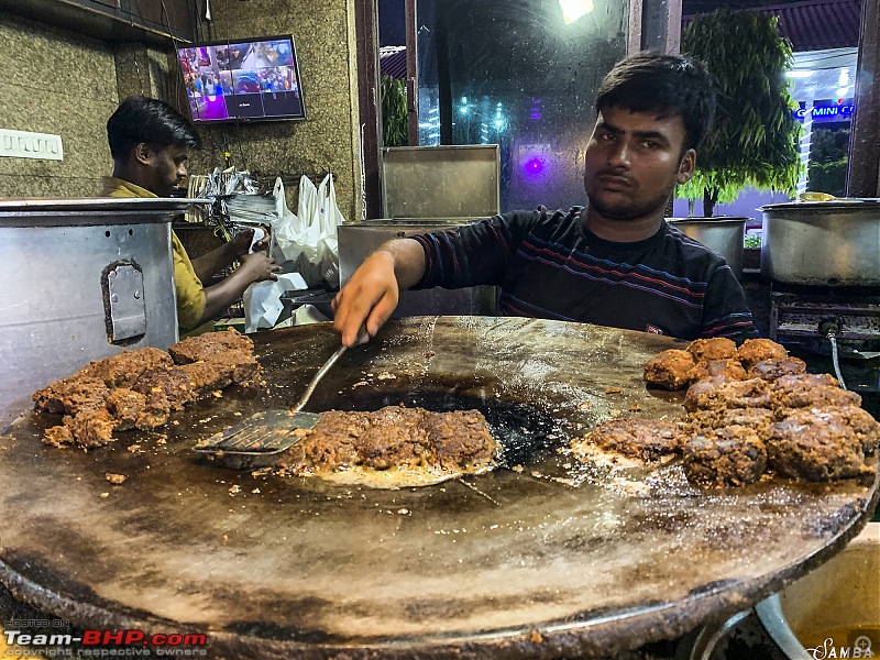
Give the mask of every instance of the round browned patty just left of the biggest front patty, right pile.
[[693, 437], [684, 446], [684, 473], [706, 486], [750, 484], [767, 469], [767, 449], [754, 429], [729, 426]]

